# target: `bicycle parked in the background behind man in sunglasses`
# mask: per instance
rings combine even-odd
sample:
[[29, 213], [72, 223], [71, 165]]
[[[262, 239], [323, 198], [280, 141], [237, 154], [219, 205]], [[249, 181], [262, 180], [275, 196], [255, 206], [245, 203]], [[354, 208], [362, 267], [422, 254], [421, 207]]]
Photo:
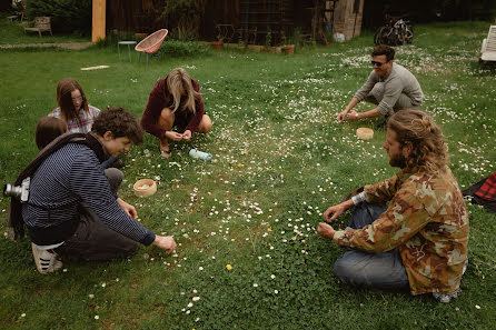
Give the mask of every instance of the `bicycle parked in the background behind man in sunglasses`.
[[389, 46], [414, 43], [414, 28], [406, 19], [386, 16], [386, 26], [377, 29], [374, 43]]

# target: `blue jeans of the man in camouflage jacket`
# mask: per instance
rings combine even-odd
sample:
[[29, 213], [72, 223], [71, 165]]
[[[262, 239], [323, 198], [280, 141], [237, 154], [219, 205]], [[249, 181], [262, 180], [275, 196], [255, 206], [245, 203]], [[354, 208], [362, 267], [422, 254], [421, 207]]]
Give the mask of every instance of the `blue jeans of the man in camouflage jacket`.
[[[363, 202], [355, 207], [349, 227], [360, 229], [370, 224], [385, 210], [386, 207]], [[334, 272], [344, 283], [353, 286], [378, 289], [408, 287], [408, 277], [398, 249], [380, 253], [348, 251], [336, 260]]]

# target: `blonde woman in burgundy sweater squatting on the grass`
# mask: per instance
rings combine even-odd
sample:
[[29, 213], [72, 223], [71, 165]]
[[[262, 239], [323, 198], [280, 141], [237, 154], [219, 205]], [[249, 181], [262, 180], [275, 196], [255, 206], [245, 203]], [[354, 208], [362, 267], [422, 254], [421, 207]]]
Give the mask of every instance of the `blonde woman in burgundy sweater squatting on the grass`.
[[162, 158], [171, 154], [169, 140], [189, 141], [195, 132], [210, 131], [211, 120], [205, 113], [200, 86], [185, 69], [173, 69], [156, 82], [141, 117], [141, 127], [160, 140]]

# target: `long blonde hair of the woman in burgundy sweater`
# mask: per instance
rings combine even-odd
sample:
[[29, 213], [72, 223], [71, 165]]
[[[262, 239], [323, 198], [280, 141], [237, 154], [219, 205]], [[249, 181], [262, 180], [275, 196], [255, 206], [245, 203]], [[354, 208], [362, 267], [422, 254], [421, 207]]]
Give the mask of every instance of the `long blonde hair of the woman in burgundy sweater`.
[[[191, 77], [182, 68], [176, 68], [167, 76], [167, 89], [172, 96], [172, 112], [177, 109], [187, 110], [196, 113], [197, 109], [195, 100], [200, 98], [201, 93], [197, 92], [192, 88]], [[186, 92], [186, 97], [182, 97], [181, 92]]]

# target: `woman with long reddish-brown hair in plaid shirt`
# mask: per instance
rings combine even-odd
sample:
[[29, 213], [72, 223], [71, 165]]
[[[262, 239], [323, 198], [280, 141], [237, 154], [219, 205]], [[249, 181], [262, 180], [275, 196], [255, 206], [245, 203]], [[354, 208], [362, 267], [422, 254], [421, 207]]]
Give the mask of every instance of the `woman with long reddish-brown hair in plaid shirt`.
[[71, 133], [88, 133], [95, 119], [100, 113], [98, 108], [88, 104], [85, 91], [76, 79], [65, 78], [57, 84], [57, 103], [48, 116], [57, 117], [67, 122]]

